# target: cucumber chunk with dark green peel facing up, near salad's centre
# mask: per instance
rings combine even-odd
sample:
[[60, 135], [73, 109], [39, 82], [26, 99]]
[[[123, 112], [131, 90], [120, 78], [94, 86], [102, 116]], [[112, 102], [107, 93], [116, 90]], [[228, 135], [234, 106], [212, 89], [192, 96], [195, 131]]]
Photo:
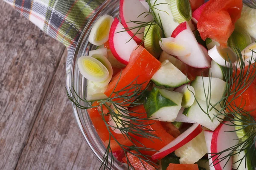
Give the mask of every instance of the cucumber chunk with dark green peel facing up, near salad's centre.
[[163, 122], [173, 122], [181, 108], [182, 94], [153, 88], [144, 103], [148, 117]]

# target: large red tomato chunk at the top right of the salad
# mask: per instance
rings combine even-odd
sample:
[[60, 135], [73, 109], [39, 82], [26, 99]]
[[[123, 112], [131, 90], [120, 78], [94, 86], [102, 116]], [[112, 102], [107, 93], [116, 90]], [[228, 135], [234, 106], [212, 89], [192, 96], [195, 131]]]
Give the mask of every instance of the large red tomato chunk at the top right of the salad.
[[198, 20], [201, 38], [211, 38], [227, 47], [227, 40], [241, 17], [242, 0], [209, 0]]

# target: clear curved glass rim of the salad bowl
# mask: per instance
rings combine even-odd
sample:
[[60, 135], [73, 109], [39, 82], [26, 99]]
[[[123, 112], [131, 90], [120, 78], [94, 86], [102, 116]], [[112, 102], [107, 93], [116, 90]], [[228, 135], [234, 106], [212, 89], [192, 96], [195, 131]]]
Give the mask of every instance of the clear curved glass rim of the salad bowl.
[[[90, 20], [88, 21], [88, 23], [84, 27], [83, 31], [81, 32], [81, 35], [80, 35], [80, 37], [77, 41], [75, 51], [73, 53], [71, 67], [70, 67], [69, 88], [70, 88], [71, 91], [73, 91], [73, 89], [71, 87], [73, 86], [73, 78], [74, 78], [74, 77], [72, 77], [72, 75], [75, 75], [76, 59], [79, 57], [78, 54], [79, 54], [79, 50], [81, 49], [81, 45], [83, 43], [84, 37], [86, 36], [86, 33], [90, 30], [91, 26], [93, 25], [93, 22], [96, 20], [96, 18], [102, 12], [102, 10], [105, 9], [108, 6], [108, 4], [110, 4], [114, 1], [115, 0], [105, 0], [102, 3], [102, 5], [99, 6], [99, 8], [95, 11], [95, 13], [92, 15], [92, 17], [90, 18]], [[89, 146], [89, 148], [93, 152], [94, 156], [96, 156], [96, 158], [102, 163], [103, 162], [102, 158], [99, 156], [99, 154], [93, 148], [92, 144], [89, 142], [88, 136], [84, 131], [83, 125], [81, 123], [82, 120], [79, 116], [79, 113], [78, 113], [77, 109], [78, 108], [76, 107], [76, 105], [72, 102], [72, 111], [73, 111], [73, 115], [74, 115], [75, 120], [76, 120], [76, 124], [78, 125], [79, 130], [82, 133], [82, 136], [83, 136], [84, 140], [87, 143], [87, 146]], [[114, 167], [112, 166], [112, 168], [114, 168]], [[110, 169], [110, 167], [108, 167], [108, 169]]]

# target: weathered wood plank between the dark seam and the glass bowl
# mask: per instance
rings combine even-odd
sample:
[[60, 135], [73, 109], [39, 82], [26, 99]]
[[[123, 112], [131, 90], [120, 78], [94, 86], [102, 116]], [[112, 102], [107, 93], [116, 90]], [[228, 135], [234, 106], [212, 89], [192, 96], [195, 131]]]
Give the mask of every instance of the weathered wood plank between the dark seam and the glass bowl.
[[73, 117], [65, 89], [65, 56], [52, 79], [17, 170], [97, 170], [99, 161], [87, 147]]

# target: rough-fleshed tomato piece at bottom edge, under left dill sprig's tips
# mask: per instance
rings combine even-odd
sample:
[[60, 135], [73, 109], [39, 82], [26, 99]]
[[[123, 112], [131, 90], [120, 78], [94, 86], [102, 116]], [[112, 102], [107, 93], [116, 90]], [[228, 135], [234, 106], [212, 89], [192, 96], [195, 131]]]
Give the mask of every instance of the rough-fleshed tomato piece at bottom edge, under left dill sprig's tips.
[[[134, 150], [131, 151], [132, 153], [136, 153]], [[141, 160], [143, 163], [141, 163], [140, 159], [137, 156], [134, 156], [131, 153], [126, 154], [128, 157], [128, 160], [131, 164], [131, 166], [134, 168], [134, 170], [155, 170], [156, 168], [152, 165], [148, 164], [147, 162]], [[127, 158], [124, 157], [122, 159], [127, 164]], [[143, 166], [144, 165], [144, 166]]]

